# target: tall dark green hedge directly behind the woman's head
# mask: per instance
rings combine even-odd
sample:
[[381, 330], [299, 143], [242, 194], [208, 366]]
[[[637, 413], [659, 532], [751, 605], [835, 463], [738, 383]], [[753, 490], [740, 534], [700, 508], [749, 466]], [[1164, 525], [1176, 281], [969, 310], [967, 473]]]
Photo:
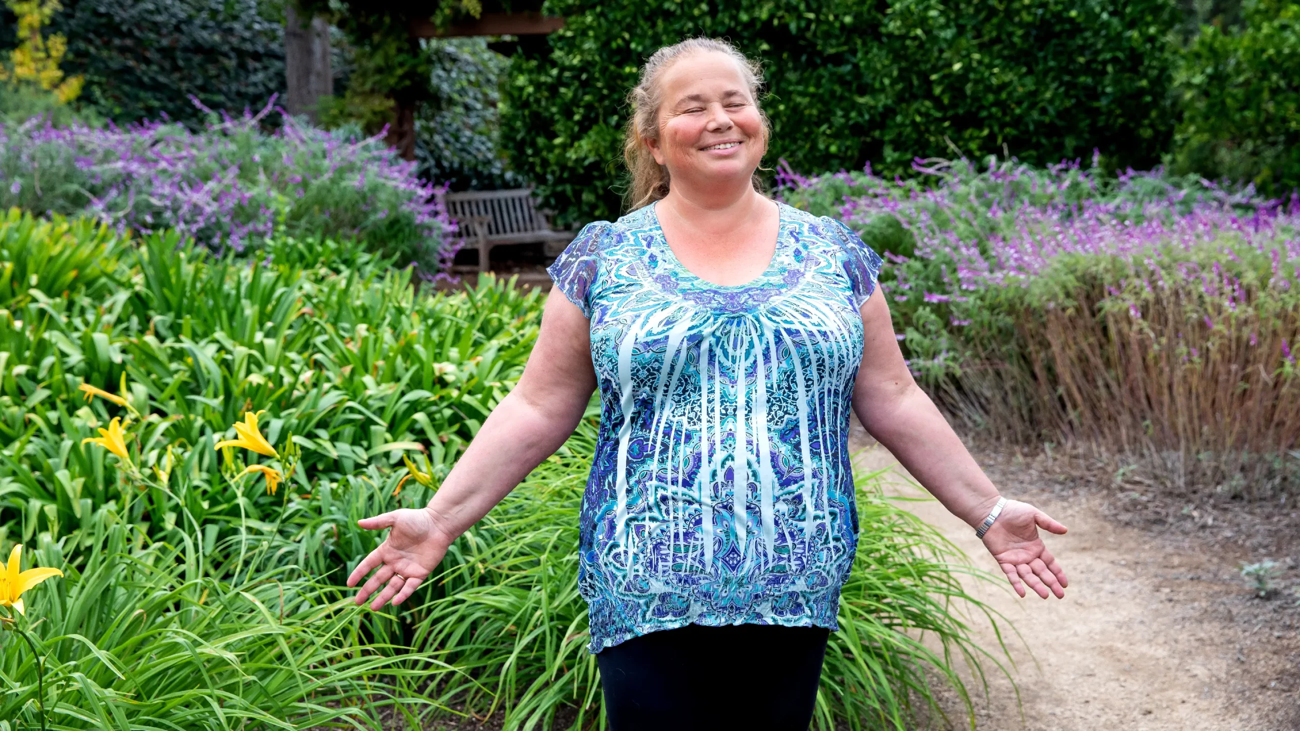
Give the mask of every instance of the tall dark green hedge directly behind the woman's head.
[[[915, 156], [1001, 152], [1118, 164], [1165, 148], [1175, 23], [1165, 0], [845, 0], [608, 5], [564, 16], [542, 56], [516, 56], [502, 139], [564, 222], [616, 216], [624, 96], [656, 48], [725, 36], [767, 72], [770, 160], [888, 176]], [[952, 143], [952, 144], [950, 144]]]

